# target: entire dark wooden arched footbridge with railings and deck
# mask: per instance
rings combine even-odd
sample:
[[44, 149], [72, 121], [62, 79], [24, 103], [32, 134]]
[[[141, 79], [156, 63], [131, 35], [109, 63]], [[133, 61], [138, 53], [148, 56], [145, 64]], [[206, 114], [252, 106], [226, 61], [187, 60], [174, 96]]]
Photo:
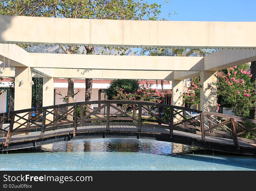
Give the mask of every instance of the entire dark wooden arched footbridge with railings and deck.
[[[9, 125], [4, 128], [4, 123]], [[256, 138], [255, 129], [255, 120], [161, 103], [77, 102], [1, 113], [0, 150], [85, 138], [138, 138], [256, 155], [256, 140], [244, 138], [248, 133]]]

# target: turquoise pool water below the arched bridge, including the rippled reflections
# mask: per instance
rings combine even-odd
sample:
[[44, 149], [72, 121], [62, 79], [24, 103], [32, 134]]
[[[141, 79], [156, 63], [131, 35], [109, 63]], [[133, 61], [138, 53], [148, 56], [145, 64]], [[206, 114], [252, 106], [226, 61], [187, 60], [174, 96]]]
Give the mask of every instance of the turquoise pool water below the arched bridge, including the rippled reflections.
[[0, 154], [0, 170], [256, 170], [256, 158], [138, 139], [59, 142]]

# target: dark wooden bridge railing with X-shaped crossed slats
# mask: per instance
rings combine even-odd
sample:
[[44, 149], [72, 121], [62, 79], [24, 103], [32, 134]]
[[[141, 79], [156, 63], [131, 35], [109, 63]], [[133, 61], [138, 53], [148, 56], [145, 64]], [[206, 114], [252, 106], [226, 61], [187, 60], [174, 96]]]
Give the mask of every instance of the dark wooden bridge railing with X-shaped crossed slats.
[[[99, 107], [92, 109], [90, 104], [98, 104]], [[116, 104], [122, 106], [122, 109]], [[103, 113], [104, 110], [106, 113]], [[197, 115], [191, 116], [189, 112]], [[10, 124], [3, 128], [4, 122]], [[79, 126], [104, 125], [106, 131], [109, 131], [110, 125], [118, 124], [138, 126], [138, 132], [141, 132], [142, 125], [169, 129], [171, 138], [173, 130], [201, 135], [202, 140], [205, 140], [205, 136], [229, 138], [234, 140], [238, 148], [238, 140], [256, 143], [255, 140], [241, 137], [249, 132], [250, 136], [256, 138], [255, 120], [161, 103], [127, 100], [76, 102], [1, 113], [0, 137], [6, 137], [5, 146], [8, 146], [12, 135], [40, 132], [43, 138], [46, 131], [73, 128], [75, 136]]]

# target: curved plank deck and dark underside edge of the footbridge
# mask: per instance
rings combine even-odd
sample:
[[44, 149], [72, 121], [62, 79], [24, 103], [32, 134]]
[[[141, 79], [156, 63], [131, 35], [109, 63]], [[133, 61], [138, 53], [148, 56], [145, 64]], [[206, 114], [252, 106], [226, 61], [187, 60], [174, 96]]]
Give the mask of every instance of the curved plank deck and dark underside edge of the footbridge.
[[[13, 135], [9, 144], [10, 148], [2, 147], [2, 150], [21, 149], [28, 147], [35, 147], [53, 142], [83, 139], [83, 138], [140, 138], [140, 139], [154, 139], [169, 142], [177, 142], [182, 144], [189, 144], [205, 149], [213, 149], [220, 151], [228, 151], [233, 153], [247, 153], [247, 149], [256, 151], [256, 146], [246, 142], [239, 141], [240, 150], [234, 146], [234, 141], [227, 138], [209, 137], [205, 136], [205, 141], [201, 140], [201, 135], [188, 133], [183, 131], [173, 130], [173, 139], [170, 139], [169, 129], [141, 127], [141, 132], [138, 132], [138, 126], [131, 125], [111, 125], [110, 130], [106, 131], [106, 126], [81, 126], [77, 127], [76, 136], [73, 137], [74, 128], [57, 129], [53, 131], [46, 131], [45, 135], [41, 137], [40, 132], [29, 133], [24, 135]], [[70, 138], [67, 138], [67, 135]], [[63, 139], [63, 136], [65, 137]], [[0, 138], [0, 145], [4, 144], [6, 137]], [[187, 140], [187, 141], [186, 141]], [[28, 144], [28, 142], [33, 142]], [[16, 145], [16, 144], [17, 145]], [[23, 146], [22, 146], [23, 143]], [[243, 152], [241, 151], [243, 150]], [[253, 151], [253, 152], [254, 152]], [[246, 152], [246, 153], [244, 153]], [[248, 154], [248, 153], [247, 153]]]

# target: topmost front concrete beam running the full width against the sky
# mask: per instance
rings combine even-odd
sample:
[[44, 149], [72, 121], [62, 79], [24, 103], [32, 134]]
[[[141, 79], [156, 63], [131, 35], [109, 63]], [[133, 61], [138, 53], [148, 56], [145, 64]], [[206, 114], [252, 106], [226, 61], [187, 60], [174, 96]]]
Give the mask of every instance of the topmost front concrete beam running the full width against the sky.
[[[74, 28], [76, 30], [71, 30]], [[256, 38], [252, 38], [255, 29], [256, 22], [133, 21], [0, 15], [0, 42], [31, 44], [255, 48]], [[163, 35], [164, 31], [168, 31], [168, 34]]]

